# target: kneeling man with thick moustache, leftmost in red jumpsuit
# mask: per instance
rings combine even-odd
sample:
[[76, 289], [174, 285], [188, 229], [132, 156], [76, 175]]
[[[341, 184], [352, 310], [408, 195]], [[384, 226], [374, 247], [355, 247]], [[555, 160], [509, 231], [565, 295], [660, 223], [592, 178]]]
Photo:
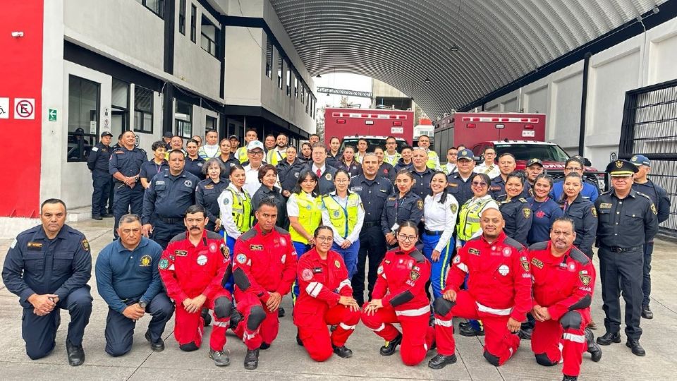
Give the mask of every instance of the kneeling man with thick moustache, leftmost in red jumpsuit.
[[188, 207], [183, 219], [188, 231], [169, 241], [158, 267], [167, 294], [176, 303], [174, 337], [179, 348], [200, 348], [205, 306], [214, 310], [209, 357], [217, 366], [225, 366], [230, 363], [224, 346], [233, 304], [231, 293], [221, 285], [230, 276], [231, 260], [224, 237], [205, 230], [207, 222], [204, 207]]

